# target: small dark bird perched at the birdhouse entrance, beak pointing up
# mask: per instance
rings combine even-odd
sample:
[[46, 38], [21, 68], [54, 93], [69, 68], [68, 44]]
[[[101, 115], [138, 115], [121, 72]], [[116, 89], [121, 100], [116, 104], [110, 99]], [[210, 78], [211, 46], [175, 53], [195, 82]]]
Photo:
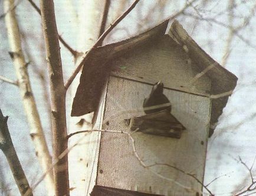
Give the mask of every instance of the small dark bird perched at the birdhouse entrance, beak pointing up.
[[170, 112], [172, 106], [169, 99], [163, 94], [163, 83], [159, 81], [153, 85], [149, 97], [144, 100], [143, 110], [146, 114], [152, 114], [165, 109]]

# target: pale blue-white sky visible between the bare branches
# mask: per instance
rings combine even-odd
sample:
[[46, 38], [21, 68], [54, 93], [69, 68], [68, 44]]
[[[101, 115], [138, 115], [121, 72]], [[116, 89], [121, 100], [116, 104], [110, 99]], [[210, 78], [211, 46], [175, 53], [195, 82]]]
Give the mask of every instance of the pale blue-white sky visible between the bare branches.
[[[55, 1], [58, 32], [73, 48], [77, 46], [76, 35], [80, 27], [76, 18], [80, 1], [82, 0]], [[38, 1], [36, 2], [38, 4]], [[113, 1], [111, 9], [115, 9], [116, 2], [117, 0]], [[120, 41], [145, 31], [145, 29], [159, 24], [160, 21], [177, 12], [184, 5], [184, 1], [159, 1], [158, 6], [153, 9], [155, 2], [153, 0], [142, 0], [127, 18], [116, 27], [116, 30], [110, 33], [104, 44]], [[165, 6], [162, 5], [164, 2], [166, 2]], [[202, 2], [206, 3], [203, 4]], [[254, 152], [256, 147], [256, 93], [254, 93], [256, 85], [256, 29], [253, 25], [256, 24], [254, 16], [255, 1], [234, 2], [236, 6], [234, 7], [234, 18], [231, 24], [234, 25], [234, 28], [242, 27], [232, 36], [229, 47], [230, 54], [225, 68], [238, 77], [238, 84], [219, 118], [214, 135], [209, 138], [206, 157], [205, 184], [220, 177], [208, 187], [215, 192], [215, 195], [232, 195], [232, 192], [239, 192], [239, 190], [245, 188], [250, 183], [250, 173], [245, 165], [241, 164], [239, 157], [248, 167], [251, 167], [256, 155]], [[2, 4], [2, 1], [0, 4]], [[230, 25], [229, 16], [231, 13], [227, 11], [227, 7], [228, 1], [224, 0], [197, 1], [193, 8], [189, 8], [185, 11], [185, 14], [177, 18], [189, 35], [219, 63], [223, 62], [222, 58], [227, 51], [227, 40], [230, 35], [227, 26]], [[47, 102], [42, 101], [44, 100], [44, 91], [42, 91], [42, 84], [37, 74], [37, 71], [40, 70], [47, 76], [44, 43], [41, 41], [40, 16], [25, 0], [20, 2], [16, 11], [24, 39], [24, 49], [31, 52], [31, 64], [28, 67], [29, 77], [31, 77], [32, 89], [38, 103], [37, 106], [48, 146], [51, 147], [48, 107]], [[2, 12], [2, 6], [0, 6], [0, 13]], [[250, 22], [245, 22], [247, 20]], [[15, 79], [12, 61], [8, 55], [9, 48], [4, 19], [0, 20], [0, 29], [1, 75]], [[73, 70], [74, 62], [63, 45], [61, 45], [61, 55], [64, 79], [67, 79]], [[28, 59], [27, 53], [26, 57]], [[47, 77], [45, 77], [45, 80], [47, 81]], [[69, 94], [70, 92], [68, 92], [67, 98], [67, 115], [70, 111], [71, 102]], [[0, 82], [0, 103], [4, 115], [9, 116], [9, 130], [22, 166], [29, 181], [34, 183], [40, 177], [41, 170], [28, 134], [28, 125], [19, 98], [18, 88]], [[17, 188], [2, 152], [0, 152], [0, 160], [2, 177], [11, 189], [12, 195], [16, 195]], [[252, 172], [254, 171], [255, 169], [252, 167]], [[35, 195], [44, 195], [43, 188], [44, 184], [38, 186]]]

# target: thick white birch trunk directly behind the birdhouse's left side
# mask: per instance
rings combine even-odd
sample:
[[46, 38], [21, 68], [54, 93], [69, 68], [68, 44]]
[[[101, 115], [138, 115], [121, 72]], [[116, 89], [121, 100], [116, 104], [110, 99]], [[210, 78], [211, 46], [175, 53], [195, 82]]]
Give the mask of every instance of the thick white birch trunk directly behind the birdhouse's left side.
[[[78, 19], [80, 24], [80, 31], [78, 34], [78, 51], [88, 51], [97, 41], [100, 35], [101, 21], [103, 20], [104, 5], [106, 0], [84, 0], [79, 6], [81, 10], [78, 12]], [[107, 16], [107, 28], [110, 22], [113, 22], [120, 14], [123, 13], [124, 1], [118, 1], [111, 7], [111, 13]], [[109, 19], [110, 17], [110, 19]], [[101, 29], [101, 30], [100, 30]], [[75, 62], [81, 62], [81, 57], [78, 56]], [[75, 64], [77, 67], [77, 64]], [[71, 97], [74, 98], [76, 89], [79, 84], [81, 72], [78, 73], [71, 86]], [[93, 81], [91, 81], [93, 82]], [[73, 100], [73, 99], [71, 99]], [[70, 133], [81, 131], [84, 129], [91, 129], [91, 119], [93, 114], [83, 115], [81, 117], [70, 118]], [[94, 128], [100, 128], [96, 124]], [[99, 157], [99, 132], [91, 132], [90, 134], [78, 134], [70, 138], [68, 145], [73, 147], [68, 156], [70, 164], [70, 187], [71, 195], [90, 195], [96, 183], [96, 170], [93, 170], [94, 164], [97, 164]], [[76, 167], [71, 167], [76, 165]], [[82, 171], [82, 172], [81, 172]]]

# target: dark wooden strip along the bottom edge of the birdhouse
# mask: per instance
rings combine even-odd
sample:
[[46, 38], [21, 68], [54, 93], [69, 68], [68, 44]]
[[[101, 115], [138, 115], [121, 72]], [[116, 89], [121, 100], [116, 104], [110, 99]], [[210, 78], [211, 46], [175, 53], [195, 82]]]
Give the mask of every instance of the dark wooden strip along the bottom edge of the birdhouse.
[[160, 195], [122, 190], [119, 188], [95, 186], [93, 188], [93, 192], [91, 192], [91, 196], [160, 196]]

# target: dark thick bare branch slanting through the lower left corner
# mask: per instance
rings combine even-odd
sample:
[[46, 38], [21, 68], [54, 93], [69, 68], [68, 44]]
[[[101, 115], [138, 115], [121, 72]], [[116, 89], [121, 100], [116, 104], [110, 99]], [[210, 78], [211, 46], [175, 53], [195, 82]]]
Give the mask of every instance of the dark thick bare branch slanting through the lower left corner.
[[4, 152], [5, 157], [8, 160], [9, 167], [11, 168], [12, 175], [14, 176], [14, 180], [21, 195], [24, 196], [24, 194], [28, 193], [28, 196], [32, 196], [32, 190], [29, 187], [27, 177], [25, 176], [21, 163], [19, 162], [14, 144], [12, 144], [7, 119], [8, 117], [4, 117], [0, 109], [0, 149]]

